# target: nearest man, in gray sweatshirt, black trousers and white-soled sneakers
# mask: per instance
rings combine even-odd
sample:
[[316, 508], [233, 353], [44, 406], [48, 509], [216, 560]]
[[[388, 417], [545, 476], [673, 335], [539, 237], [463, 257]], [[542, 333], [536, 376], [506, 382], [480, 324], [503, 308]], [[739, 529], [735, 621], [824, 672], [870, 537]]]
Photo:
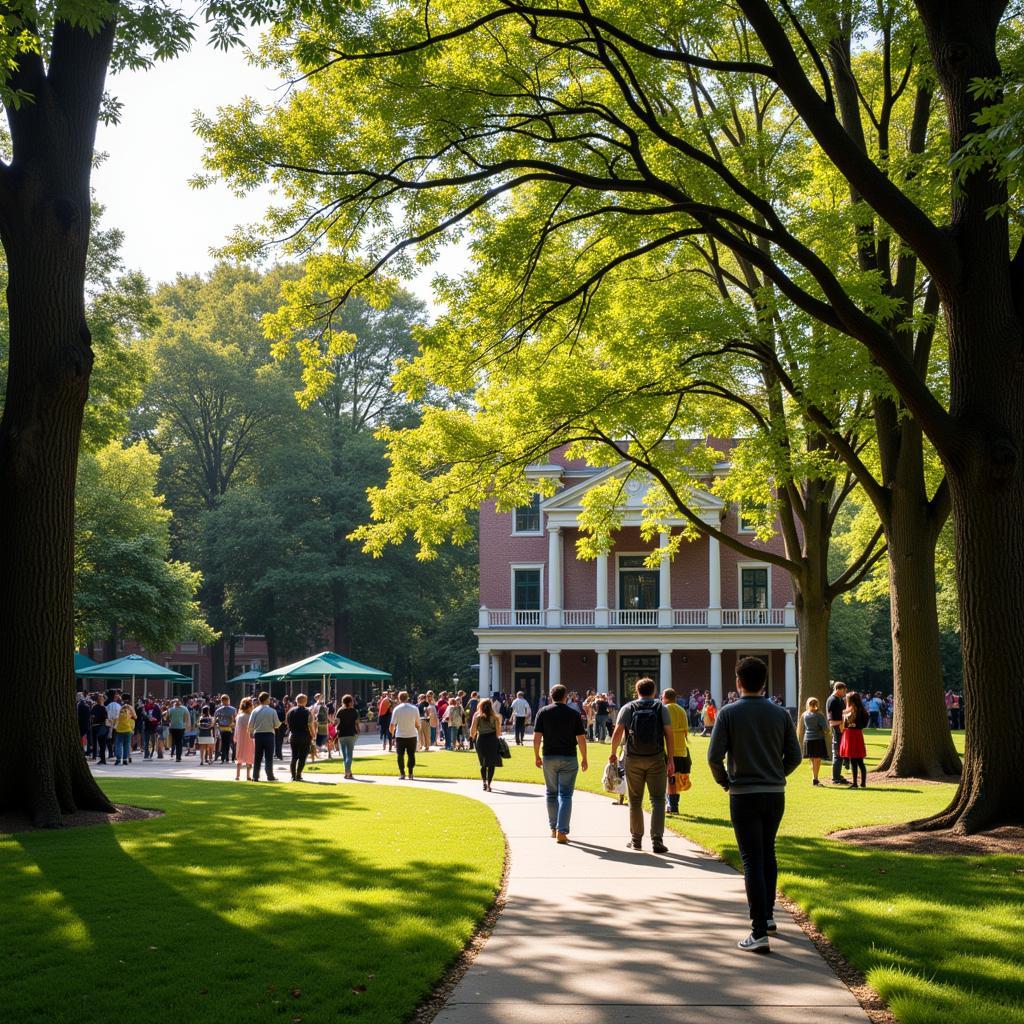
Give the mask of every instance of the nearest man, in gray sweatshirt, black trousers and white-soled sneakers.
[[[785, 776], [800, 764], [790, 713], [765, 697], [768, 667], [756, 657], [736, 666], [739, 699], [723, 708], [708, 746], [715, 781], [729, 794], [729, 815], [743, 862], [751, 934], [736, 943], [748, 952], [771, 952], [778, 864], [775, 836], [785, 809]], [[728, 759], [728, 767], [722, 762]]]

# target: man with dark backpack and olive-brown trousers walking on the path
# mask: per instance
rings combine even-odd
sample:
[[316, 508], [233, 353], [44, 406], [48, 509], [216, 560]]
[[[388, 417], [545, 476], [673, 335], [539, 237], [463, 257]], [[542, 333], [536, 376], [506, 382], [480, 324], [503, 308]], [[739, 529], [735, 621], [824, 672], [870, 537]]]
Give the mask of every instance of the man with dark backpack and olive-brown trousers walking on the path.
[[669, 709], [654, 695], [653, 679], [636, 683], [637, 699], [623, 707], [611, 734], [609, 764], [618, 760], [617, 751], [626, 737], [626, 792], [630, 798], [631, 850], [643, 849], [643, 795], [650, 795], [650, 841], [654, 853], [668, 853], [665, 836], [665, 791], [669, 766], [675, 775], [672, 718]]

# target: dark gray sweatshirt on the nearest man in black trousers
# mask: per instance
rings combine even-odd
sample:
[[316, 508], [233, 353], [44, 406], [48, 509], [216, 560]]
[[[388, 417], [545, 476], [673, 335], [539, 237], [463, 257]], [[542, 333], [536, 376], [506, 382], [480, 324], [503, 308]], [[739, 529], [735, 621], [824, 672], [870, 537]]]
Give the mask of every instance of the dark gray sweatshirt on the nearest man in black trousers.
[[800, 760], [797, 730], [784, 708], [766, 697], [742, 696], [719, 712], [708, 764], [729, 793], [782, 793]]

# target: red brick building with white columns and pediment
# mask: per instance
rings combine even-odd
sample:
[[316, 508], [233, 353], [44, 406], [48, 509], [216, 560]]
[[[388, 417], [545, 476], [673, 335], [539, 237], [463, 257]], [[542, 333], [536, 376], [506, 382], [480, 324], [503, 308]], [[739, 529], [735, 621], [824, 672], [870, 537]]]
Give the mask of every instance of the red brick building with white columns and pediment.
[[[526, 474], [555, 480], [555, 495], [535, 496], [512, 513], [481, 508], [481, 691], [523, 690], [536, 701], [563, 682], [622, 699], [639, 676], [650, 675], [662, 689], [710, 689], [721, 706], [736, 662], [755, 654], [768, 664], [769, 693], [795, 707], [798, 635], [783, 569], [705, 536], [684, 540], [658, 568], [646, 567], [666, 538], [652, 544], [640, 536], [647, 484], [636, 476], [623, 488], [623, 524], [611, 550], [593, 560], [577, 557], [583, 497], [627, 470], [626, 463], [596, 469], [552, 453]], [[727, 470], [723, 462], [716, 472]], [[740, 510], [711, 493], [692, 492], [690, 506], [748, 545], [781, 553], [780, 538], [759, 542]], [[683, 520], [669, 525], [681, 528]]]

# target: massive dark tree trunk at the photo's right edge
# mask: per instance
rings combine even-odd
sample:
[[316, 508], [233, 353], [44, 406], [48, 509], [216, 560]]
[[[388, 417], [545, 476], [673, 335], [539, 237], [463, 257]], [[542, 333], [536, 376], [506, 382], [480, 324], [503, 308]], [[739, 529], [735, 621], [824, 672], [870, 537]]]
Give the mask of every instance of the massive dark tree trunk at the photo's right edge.
[[[1004, 6], [945, 0], [920, 7], [954, 152], [983, 102], [971, 83], [999, 74], [995, 34]], [[953, 802], [916, 824], [961, 833], [1024, 820], [1024, 325], [1009, 225], [989, 212], [1005, 200], [988, 168], [956, 193], [958, 279], [940, 288], [956, 427], [940, 454], [952, 501], [967, 745]]]

